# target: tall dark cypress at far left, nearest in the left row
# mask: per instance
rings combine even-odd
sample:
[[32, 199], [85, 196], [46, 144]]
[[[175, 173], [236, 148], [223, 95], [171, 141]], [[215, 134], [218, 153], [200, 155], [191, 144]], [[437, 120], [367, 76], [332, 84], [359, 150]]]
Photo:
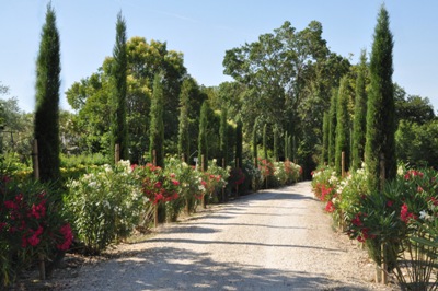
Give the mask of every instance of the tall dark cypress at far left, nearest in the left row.
[[56, 181], [59, 171], [60, 43], [56, 15], [47, 5], [36, 60], [34, 138], [38, 141], [39, 178]]

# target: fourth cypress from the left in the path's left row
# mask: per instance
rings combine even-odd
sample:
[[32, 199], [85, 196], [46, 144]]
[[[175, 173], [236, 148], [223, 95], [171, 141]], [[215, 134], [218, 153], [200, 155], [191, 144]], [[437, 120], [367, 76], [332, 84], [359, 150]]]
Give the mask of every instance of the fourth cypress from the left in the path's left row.
[[188, 162], [191, 156], [191, 132], [189, 132], [189, 96], [192, 91], [192, 81], [184, 80], [180, 94], [180, 126], [178, 126], [178, 155], [184, 156]]

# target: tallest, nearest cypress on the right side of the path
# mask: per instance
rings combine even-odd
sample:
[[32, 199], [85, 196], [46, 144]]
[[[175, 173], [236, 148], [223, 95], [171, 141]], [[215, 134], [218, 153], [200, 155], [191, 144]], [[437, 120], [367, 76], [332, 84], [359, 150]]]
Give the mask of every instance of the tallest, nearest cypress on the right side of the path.
[[370, 59], [370, 91], [367, 103], [367, 141], [365, 146], [366, 165], [370, 173], [370, 191], [380, 188], [380, 159], [384, 159], [384, 176], [392, 179], [396, 175], [395, 160], [395, 106], [392, 83], [393, 39], [389, 14], [381, 7], [374, 30]]

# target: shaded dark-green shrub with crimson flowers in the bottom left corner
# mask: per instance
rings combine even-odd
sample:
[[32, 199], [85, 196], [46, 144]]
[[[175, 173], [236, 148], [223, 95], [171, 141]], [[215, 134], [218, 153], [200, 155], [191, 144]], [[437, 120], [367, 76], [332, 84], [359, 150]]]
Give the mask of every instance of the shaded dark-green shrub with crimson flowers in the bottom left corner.
[[0, 283], [5, 287], [38, 255], [50, 259], [69, 249], [73, 235], [60, 212], [60, 194], [50, 186], [3, 175], [0, 195]]

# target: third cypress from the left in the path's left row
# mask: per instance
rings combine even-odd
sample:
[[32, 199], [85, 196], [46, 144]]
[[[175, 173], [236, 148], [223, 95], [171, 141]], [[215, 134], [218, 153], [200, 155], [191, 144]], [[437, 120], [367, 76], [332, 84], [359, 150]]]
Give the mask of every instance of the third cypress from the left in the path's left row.
[[163, 74], [158, 73], [153, 79], [153, 92], [150, 108], [150, 158], [153, 159], [155, 151], [157, 165], [164, 166], [164, 93]]

